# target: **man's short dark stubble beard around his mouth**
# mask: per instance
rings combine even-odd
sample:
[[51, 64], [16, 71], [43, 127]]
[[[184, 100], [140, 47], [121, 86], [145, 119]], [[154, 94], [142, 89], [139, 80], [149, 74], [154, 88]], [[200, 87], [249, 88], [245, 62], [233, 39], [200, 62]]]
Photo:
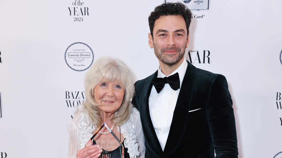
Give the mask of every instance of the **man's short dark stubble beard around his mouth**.
[[[159, 51], [159, 48], [158, 48], [157, 44], [155, 44], [155, 43], [153, 43], [153, 44], [154, 44], [154, 51], [155, 51], [156, 57], [161, 62], [163, 62], [164, 64], [166, 64], [168, 66], [175, 65], [176, 63], [178, 63], [184, 57], [185, 46], [184, 46], [183, 49], [181, 49], [179, 47], [176, 47], [176, 46], [166, 47], [166, 48], [160, 49], [160, 51]], [[173, 55], [172, 54], [164, 54], [165, 51], [171, 51], [171, 50], [178, 51], [178, 56], [177, 57], [173, 57], [173, 56], [175, 56], [175, 54], [173, 54]]]

